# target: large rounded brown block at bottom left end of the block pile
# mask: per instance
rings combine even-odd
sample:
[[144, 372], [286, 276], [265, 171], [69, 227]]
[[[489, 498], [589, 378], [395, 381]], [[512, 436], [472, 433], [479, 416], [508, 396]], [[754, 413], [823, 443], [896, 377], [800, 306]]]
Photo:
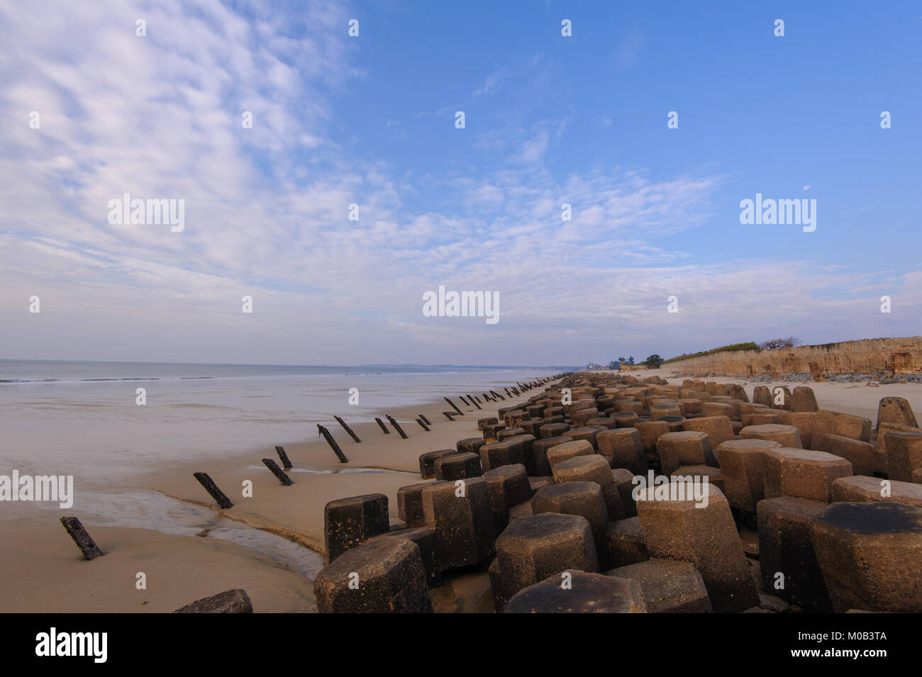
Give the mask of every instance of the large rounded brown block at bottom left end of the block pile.
[[364, 543], [313, 581], [320, 613], [431, 613], [420, 546], [408, 539]]

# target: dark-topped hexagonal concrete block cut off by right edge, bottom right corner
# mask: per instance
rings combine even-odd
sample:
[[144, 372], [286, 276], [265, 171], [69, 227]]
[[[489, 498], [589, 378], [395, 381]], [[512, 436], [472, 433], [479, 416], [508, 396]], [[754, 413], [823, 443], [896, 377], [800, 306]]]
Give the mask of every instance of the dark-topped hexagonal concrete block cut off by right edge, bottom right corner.
[[922, 508], [833, 503], [810, 539], [836, 612], [922, 612]]

